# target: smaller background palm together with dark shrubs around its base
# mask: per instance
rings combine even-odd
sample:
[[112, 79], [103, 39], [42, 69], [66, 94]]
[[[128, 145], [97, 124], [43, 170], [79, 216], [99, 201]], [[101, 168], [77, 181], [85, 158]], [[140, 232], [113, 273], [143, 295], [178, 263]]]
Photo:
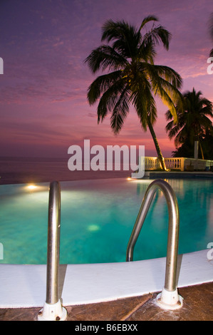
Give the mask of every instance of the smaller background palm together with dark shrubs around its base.
[[177, 124], [172, 120], [170, 110], [167, 110], [166, 113], [167, 120], [170, 120], [166, 126], [169, 138], [175, 138], [176, 147], [181, 145], [173, 152], [173, 156], [193, 157], [194, 140], [197, 140], [200, 148], [199, 157], [211, 159], [213, 128], [209, 117], [213, 117], [212, 103], [207, 98], [202, 97], [202, 92], [196, 92], [194, 88], [192, 92], [183, 93], [183, 99], [176, 106]]

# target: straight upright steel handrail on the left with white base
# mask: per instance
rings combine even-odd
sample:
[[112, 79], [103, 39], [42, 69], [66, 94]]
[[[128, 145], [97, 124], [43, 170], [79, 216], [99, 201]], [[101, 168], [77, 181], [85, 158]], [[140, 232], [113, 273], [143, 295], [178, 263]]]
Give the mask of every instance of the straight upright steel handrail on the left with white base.
[[51, 182], [48, 205], [48, 247], [46, 265], [46, 302], [38, 313], [38, 320], [66, 319], [66, 309], [58, 298], [58, 270], [61, 227], [61, 187]]

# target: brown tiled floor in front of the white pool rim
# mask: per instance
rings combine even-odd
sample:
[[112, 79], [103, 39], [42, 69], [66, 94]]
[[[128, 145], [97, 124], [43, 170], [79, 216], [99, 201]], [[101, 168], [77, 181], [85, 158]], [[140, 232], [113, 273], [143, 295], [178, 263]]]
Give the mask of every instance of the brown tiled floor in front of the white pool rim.
[[[182, 309], [155, 306], [157, 293], [116, 301], [66, 306], [68, 321], [213, 321], [213, 282], [180, 288]], [[41, 306], [42, 307], [42, 306]], [[0, 309], [0, 321], [34, 321], [40, 308]]]

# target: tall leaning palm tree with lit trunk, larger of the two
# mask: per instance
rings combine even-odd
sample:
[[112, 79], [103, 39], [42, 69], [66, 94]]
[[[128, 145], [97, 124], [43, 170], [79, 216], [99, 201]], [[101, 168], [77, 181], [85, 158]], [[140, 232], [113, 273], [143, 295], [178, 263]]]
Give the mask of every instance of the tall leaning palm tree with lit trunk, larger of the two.
[[[154, 21], [153, 26], [146, 31], [150, 21]], [[98, 76], [88, 88], [90, 105], [98, 101], [98, 123], [111, 112], [110, 125], [118, 134], [132, 104], [142, 129], [150, 129], [158, 158], [163, 170], [166, 170], [153, 128], [157, 119], [155, 96], [167, 104], [177, 121], [175, 103], [181, 96], [179, 88], [182, 79], [172, 68], [154, 64], [156, 45], [162, 43], [168, 49], [170, 42], [170, 33], [160, 25], [155, 26], [156, 21], [155, 16], [147, 16], [140, 29], [125, 21], [106, 21], [101, 41], [108, 44], [95, 48], [85, 62], [93, 73], [109, 71]], [[142, 35], [143, 30], [145, 33]]]

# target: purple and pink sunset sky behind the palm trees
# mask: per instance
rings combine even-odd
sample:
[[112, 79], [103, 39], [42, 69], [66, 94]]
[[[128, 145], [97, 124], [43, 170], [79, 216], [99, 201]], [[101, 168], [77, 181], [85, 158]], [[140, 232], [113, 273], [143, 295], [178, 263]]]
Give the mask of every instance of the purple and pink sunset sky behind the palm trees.
[[[208, 20], [212, 0], [0, 0], [0, 156], [67, 157], [70, 145], [145, 145], [156, 155], [151, 135], [131, 110], [120, 134], [109, 118], [97, 124], [87, 88], [95, 76], [83, 63], [100, 45], [101, 26], [124, 19], [139, 26], [150, 14], [172, 33], [169, 51], [157, 48], [155, 63], [183, 79], [182, 91], [202, 91], [213, 101], [212, 49]], [[99, 74], [99, 73], [98, 73]], [[165, 157], [175, 150], [165, 132], [167, 107], [157, 102], [155, 132]]]

